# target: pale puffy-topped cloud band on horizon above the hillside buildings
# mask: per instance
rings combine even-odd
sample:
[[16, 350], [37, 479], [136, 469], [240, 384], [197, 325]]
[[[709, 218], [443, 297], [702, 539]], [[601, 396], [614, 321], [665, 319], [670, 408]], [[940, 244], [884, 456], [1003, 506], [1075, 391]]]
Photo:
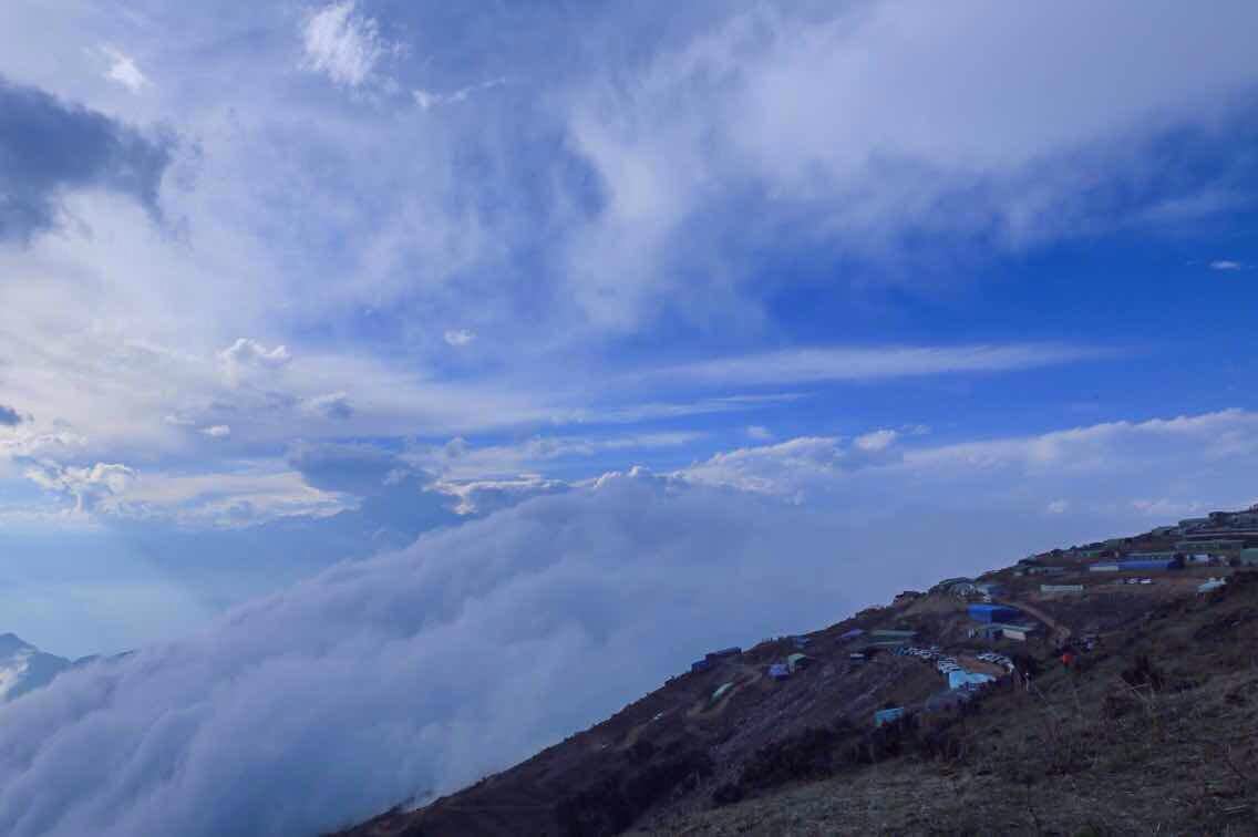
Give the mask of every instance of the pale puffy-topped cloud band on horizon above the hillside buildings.
[[677, 476], [827, 503], [853, 519], [911, 505], [1059, 508], [1063, 519], [1103, 519], [1116, 529], [1145, 525], [1157, 510], [1247, 506], [1254, 488], [1245, 475], [1258, 468], [1258, 413], [1239, 409], [942, 446], [877, 438], [872, 448], [829, 437], [741, 448]]

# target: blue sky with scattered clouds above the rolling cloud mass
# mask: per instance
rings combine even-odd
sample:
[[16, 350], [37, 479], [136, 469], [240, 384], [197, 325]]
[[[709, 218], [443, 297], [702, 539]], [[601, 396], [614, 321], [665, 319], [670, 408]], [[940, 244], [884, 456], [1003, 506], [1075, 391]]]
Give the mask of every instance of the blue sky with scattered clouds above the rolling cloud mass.
[[633, 466], [974, 510], [949, 452], [1189, 417], [1001, 502], [1258, 498], [1248, 4], [621, 5], [10, 4], [5, 629], [180, 636]]

